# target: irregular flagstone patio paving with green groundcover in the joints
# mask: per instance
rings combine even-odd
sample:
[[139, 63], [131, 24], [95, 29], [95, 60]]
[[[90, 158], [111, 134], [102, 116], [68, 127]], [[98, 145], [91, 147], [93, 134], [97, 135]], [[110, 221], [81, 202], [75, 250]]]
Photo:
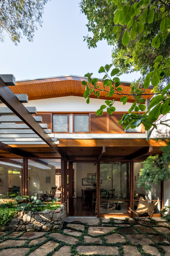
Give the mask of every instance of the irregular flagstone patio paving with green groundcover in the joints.
[[[147, 222], [144, 222], [147, 225]], [[0, 232], [0, 256], [170, 256], [170, 228], [161, 219], [69, 217], [62, 230]]]

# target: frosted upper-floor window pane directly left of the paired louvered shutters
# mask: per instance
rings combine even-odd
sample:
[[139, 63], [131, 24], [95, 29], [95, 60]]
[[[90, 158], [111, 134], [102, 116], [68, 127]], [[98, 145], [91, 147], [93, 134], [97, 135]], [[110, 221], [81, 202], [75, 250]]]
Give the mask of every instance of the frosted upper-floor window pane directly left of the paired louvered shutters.
[[89, 115], [74, 115], [74, 132], [89, 132]]

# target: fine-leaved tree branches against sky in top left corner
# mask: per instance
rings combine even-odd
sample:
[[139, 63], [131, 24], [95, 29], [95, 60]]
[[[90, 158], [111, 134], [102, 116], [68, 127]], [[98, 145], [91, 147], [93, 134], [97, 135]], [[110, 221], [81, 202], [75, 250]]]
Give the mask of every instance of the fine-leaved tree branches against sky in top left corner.
[[21, 32], [33, 41], [36, 23], [42, 26], [42, 13], [48, 0], [0, 0], [0, 41], [4, 41], [5, 30], [17, 45]]

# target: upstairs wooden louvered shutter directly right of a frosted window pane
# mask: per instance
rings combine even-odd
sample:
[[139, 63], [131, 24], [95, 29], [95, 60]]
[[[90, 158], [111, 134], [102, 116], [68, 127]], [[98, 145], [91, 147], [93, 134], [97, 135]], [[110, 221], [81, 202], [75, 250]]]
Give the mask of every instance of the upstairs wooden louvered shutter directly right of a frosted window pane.
[[90, 132], [91, 133], [107, 133], [107, 116], [96, 116], [90, 113]]

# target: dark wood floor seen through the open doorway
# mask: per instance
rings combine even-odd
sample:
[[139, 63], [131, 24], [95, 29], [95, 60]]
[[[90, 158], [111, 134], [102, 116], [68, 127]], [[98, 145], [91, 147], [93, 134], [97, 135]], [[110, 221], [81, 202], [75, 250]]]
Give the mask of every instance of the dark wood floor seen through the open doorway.
[[93, 203], [92, 207], [92, 198], [74, 198], [73, 208], [69, 208], [69, 216], [96, 216], [95, 206], [95, 203]]

